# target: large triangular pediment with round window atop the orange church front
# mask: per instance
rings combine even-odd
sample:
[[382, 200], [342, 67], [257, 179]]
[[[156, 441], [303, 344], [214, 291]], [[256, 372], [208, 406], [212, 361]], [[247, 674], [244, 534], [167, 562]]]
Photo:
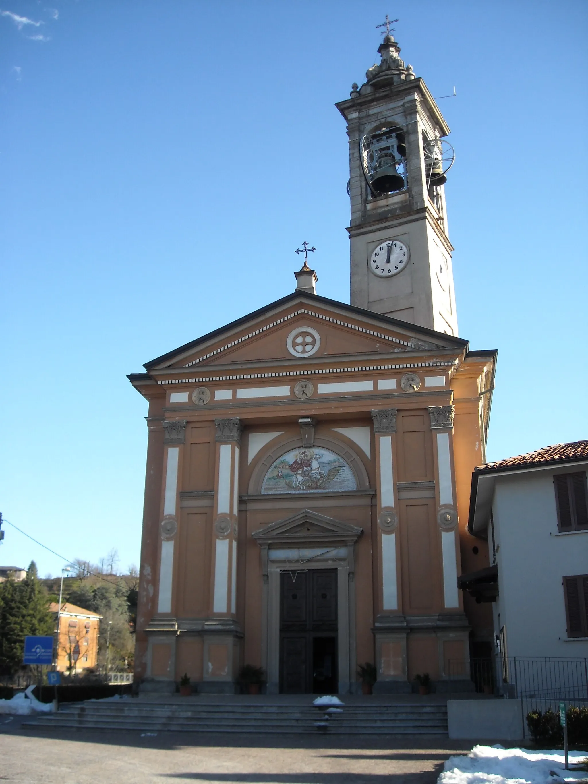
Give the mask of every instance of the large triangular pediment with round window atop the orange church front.
[[[310, 337], [304, 328], [310, 328]], [[320, 346], [305, 354], [305, 343], [295, 354], [298, 342], [318, 336]], [[390, 352], [437, 350], [462, 351], [465, 340], [352, 307], [325, 297], [301, 292], [233, 321], [223, 328], [187, 343], [145, 365], [150, 371], [243, 365], [251, 362], [300, 361], [305, 358], [336, 360], [361, 358]], [[312, 346], [310, 346], [312, 350]]]

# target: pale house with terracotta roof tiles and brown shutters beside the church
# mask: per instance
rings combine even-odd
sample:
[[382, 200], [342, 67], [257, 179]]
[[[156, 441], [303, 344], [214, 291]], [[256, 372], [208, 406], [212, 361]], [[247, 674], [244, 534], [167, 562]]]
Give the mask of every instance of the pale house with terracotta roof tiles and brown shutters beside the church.
[[504, 659], [588, 657], [588, 441], [477, 467], [468, 530], [490, 566], [462, 575], [492, 602]]

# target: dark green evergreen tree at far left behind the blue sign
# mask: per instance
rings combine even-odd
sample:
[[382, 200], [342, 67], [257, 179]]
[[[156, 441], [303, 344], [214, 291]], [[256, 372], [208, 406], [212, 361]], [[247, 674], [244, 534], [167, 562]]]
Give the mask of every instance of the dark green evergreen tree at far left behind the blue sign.
[[49, 597], [31, 561], [20, 583], [14, 579], [0, 583], [0, 670], [16, 673], [23, 666], [24, 638], [53, 635], [54, 626]]

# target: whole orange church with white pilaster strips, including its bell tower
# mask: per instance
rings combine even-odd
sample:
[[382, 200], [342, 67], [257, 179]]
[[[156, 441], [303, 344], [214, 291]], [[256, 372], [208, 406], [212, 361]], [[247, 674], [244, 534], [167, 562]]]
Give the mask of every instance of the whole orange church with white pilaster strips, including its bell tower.
[[[449, 129], [394, 38], [337, 104], [350, 139], [351, 304], [296, 290], [129, 376], [149, 402], [136, 676], [232, 692], [469, 679], [492, 615], [462, 572], [496, 352], [457, 336]], [[449, 162], [449, 163], [448, 163]], [[482, 551], [481, 551], [482, 550]], [[469, 597], [465, 597], [466, 603]], [[477, 647], [476, 647], [477, 646]]]

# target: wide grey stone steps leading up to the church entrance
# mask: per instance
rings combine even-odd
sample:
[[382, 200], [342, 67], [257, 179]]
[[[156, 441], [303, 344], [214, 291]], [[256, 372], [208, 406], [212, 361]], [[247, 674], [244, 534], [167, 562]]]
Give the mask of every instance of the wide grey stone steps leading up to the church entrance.
[[332, 735], [447, 735], [447, 706], [411, 703], [345, 705], [342, 713], [324, 713], [312, 705], [284, 702], [217, 704], [177, 700], [147, 702], [69, 702], [58, 713], [23, 723], [31, 729], [139, 730], [142, 732], [234, 732]]

